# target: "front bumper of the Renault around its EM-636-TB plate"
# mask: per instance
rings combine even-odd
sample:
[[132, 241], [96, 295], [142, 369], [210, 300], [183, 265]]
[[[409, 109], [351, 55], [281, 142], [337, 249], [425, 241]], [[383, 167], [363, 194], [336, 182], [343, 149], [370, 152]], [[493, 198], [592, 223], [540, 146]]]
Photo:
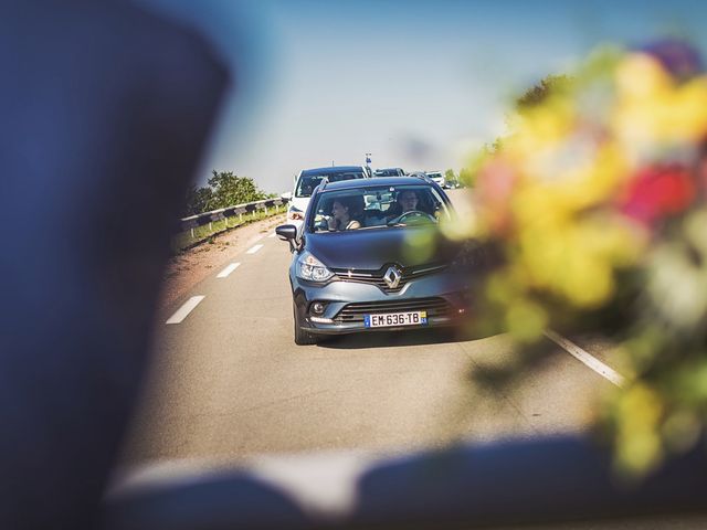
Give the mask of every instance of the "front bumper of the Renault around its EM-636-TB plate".
[[[302, 329], [320, 335], [346, 335], [360, 331], [400, 331], [422, 328], [457, 327], [472, 315], [468, 277], [443, 272], [409, 282], [400, 293], [386, 294], [376, 285], [333, 280], [324, 286], [303, 282], [291, 274], [295, 310]], [[313, 314], [313, 305], [325, 310]], [[428, 324], [367, 328], [363, 315], [428, 311]]]

